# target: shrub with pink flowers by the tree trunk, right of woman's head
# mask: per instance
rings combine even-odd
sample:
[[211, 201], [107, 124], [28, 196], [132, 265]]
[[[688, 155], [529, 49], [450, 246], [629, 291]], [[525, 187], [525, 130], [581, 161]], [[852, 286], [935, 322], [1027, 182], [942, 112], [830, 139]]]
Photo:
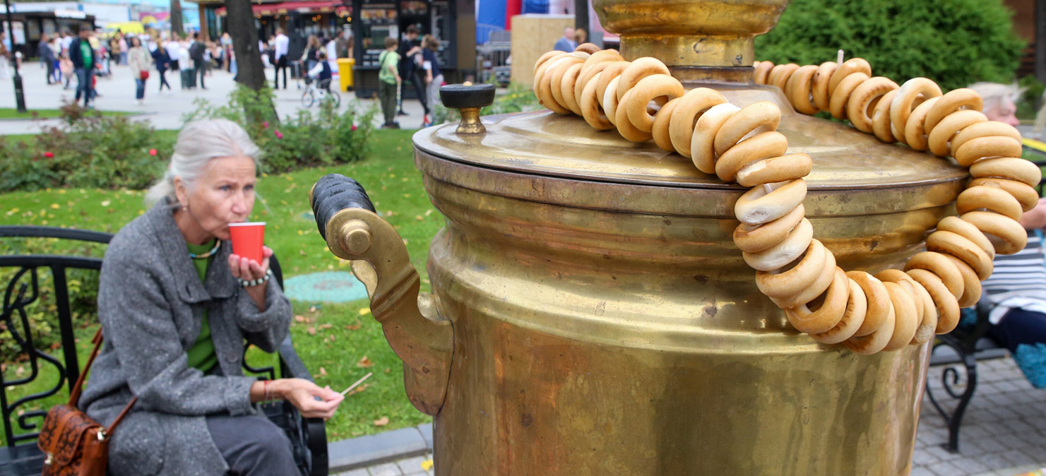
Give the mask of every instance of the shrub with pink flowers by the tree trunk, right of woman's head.
[[277, 122], [271, 109], [273, 97], [268, 87], [254, 91], [237, 86], [227, 105], [213, 106], [198, 98], [196, 111], [182, 119], [187, 122], [222, 117], [235, 121], [265, 153], [262, 166], [270, 174], [363, 158], [373, 130], [376, 108], [361, 114], [353, 101], [345, 112], [339, 113], [333, 103], [324, 100], [315, 114], [299, 110], [296, 116]]

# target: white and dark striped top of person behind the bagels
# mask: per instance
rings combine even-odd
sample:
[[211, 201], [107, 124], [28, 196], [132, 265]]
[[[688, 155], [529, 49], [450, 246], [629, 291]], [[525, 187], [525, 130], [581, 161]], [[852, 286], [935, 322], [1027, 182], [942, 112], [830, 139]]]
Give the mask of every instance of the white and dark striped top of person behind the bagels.
[[1023, 250], [996, 255], [994, 265], [995, 271], [983, 284], [992, 303], [988, 320], [993, 324], [1015, 308], [1046, 314], [1046, 255], [1041, 231], [1029, 231]]

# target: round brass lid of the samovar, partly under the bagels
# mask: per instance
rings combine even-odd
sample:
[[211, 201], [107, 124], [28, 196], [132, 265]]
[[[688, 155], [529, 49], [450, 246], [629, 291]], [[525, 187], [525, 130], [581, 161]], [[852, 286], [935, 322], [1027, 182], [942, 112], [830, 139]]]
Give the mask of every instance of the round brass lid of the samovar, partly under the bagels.
[[[783, 116], [778, 131], [789, 139], [788, 153], [806, 153], [813, 158], [814, 168], [806, 177], [812, 191], [932, 185], [967, 176], [958, 165], [929, 153], [883, 143], [854, 128], [798, 114], [779, 91], [769, 87], [746, 85], [721, 91], [738, 107], [756, 100], [780, 105]], [[486, 116], [482, 122], [486, 133], [480, 135], [458, 135], [456, 124], [422, 130], [414, 135], [414, 145], [447, 160], [536, 177], [742, 189], [698, 171], [689, 159], [662, 151], [652, 141], [630, 142], [614, 130], [596, 131], [577, 116], [535, 111]]]

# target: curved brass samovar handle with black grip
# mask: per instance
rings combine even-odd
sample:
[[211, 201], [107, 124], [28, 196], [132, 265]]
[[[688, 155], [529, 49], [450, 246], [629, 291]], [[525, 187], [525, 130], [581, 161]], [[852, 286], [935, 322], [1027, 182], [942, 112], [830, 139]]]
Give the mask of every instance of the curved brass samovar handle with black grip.
[[447, 395], [454, 330], [437, 313], [432, 295], [419, 294], [403, 239], [374, 212], [363, 186], [341, 174], [323, 176], [309, 200], [331, 252], [350, 259], [353, 273], [367, 287], [370, 312], [403, 360], [407, 398], [435, 415]]

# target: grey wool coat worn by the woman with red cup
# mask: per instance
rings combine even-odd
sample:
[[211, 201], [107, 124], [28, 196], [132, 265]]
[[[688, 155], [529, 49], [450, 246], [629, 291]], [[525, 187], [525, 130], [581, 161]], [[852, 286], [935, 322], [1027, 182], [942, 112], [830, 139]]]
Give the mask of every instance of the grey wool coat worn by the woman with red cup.
[[[256, 414], [249, 395], [255, 379], [242, 370], [244, 340], [273, 352], [291, 323], [291, 303], [275, 279], [258, 312], [226, 265], [230, 252], [222, 243], [201, 282], [163, 201], [110, 243], [98, 290], [105, 345], [79, 399], [81, 409], [108, 426], [138, 396], [114, 431], [110, 474], [218, 476], [228, 469], [204, 416]], [[205, 308], [220, 367], [211, 376], [187, 366]]]

